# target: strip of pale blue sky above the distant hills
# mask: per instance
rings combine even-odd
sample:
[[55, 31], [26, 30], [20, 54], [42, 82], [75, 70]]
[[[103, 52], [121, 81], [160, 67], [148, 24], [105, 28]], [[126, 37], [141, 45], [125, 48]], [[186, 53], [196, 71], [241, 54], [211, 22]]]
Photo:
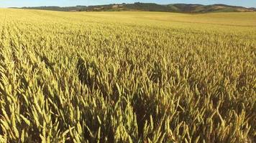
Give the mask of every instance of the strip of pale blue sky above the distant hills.
[[22, 6], [76, 6], [97, 4], [121, 4], [134, 2], [152, 2], [157, 4], [229, 4], [235, 6], [256, 7], [256, 0], [0, 0], [0, 7]]

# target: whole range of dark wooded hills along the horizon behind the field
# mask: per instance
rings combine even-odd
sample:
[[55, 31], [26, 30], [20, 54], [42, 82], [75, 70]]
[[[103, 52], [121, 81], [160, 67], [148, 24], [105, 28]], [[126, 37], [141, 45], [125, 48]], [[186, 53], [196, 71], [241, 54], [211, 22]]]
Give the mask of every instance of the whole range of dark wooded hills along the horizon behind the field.
[[134, 4], [108, 4], [99, 6], [40, 6], [23, 7], [22, 9], [42, 9], [52, 11], [165, 11], [179, 13], [209, 13], [209, 12], [249, 12], [256, 11], [255, 8], [242, 6], [229, 6], [225, 4], [201, 5], [201, 4], [153, 4], [153, 3], [134, 3]]

